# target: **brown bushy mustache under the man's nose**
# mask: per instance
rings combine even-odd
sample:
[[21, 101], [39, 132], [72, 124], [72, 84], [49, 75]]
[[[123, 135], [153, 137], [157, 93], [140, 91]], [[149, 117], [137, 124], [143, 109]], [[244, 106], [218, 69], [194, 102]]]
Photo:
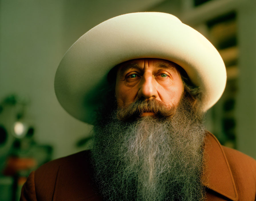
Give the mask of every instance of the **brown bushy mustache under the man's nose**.
[[129, 105], [117, 109], [117, 118], [128, 121], [139, 118], [143, 112], [153, 112], [158, 118], [170, 118], [176, 112], [177, 107], [169, 107], [165, 103], [156, 99], [138, 99]]

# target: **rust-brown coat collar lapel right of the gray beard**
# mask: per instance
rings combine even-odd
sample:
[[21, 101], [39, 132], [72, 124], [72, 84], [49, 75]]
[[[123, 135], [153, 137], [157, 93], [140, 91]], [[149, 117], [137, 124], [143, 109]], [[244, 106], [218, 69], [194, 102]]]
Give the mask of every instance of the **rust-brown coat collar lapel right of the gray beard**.
[[205, 137], [204, 158], [206, 166], [203, 184], [208, 190], [237, 201], [238, 194], [225, 152], [217, 138], [210, 132], [207, 132]]

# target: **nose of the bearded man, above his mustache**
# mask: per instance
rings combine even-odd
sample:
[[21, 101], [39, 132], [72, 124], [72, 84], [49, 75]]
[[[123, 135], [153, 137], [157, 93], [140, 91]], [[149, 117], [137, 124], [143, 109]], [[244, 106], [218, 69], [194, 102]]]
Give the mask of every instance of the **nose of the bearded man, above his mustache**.
[[154, 77], [150, 72], [145, 72], [140, 81], [140, 87], [138, 91], [138, 98], [144, 97], [145, 99], [156, 98], [157, 89], [155, 86]]

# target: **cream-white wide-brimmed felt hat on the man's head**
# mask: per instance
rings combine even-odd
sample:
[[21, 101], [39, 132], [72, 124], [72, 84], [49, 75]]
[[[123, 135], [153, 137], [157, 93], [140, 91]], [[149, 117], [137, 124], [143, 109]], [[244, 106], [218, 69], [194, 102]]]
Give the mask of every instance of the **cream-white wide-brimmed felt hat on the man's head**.
[[67, 51], [55, 75], [61, 106], [75, 118], [92, 123], [102, 99], [107, 74], [131, 59], [159, 58], [180, 65], [201, 88], [202, 109], [221, 97], [226, 69], [215, 47], [177, 17], [158, 12], [113, 17], [82, 35]]

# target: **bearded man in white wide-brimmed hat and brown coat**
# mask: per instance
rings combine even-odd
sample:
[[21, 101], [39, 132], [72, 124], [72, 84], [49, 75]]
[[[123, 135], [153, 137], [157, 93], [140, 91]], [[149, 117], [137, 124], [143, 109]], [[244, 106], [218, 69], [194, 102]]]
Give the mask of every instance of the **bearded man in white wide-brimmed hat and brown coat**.
[[225, 83], [217, 50], [173, 15], [97, 25], [55, 76], [63, 108], [94, 125], [92, 149], [31, 172], [21, 200], [255, 200], [256, 161], [202, 124]]

